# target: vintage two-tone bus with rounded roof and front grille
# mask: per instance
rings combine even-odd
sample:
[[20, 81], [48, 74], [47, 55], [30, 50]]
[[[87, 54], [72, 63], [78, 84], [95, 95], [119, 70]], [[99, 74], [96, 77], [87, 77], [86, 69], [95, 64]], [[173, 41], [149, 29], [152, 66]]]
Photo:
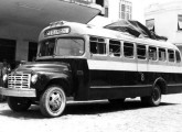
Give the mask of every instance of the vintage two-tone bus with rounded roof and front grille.
[[2, 81], [0, 94], [13, 111], [36, 103], [45, 117], [61, 116], [71, 98], [119, 105], [140, 97], [156, 107], [161, 95], [182, 91], [181, 53], [168, 42], [58, 21], [40, 33], [36, 61]]

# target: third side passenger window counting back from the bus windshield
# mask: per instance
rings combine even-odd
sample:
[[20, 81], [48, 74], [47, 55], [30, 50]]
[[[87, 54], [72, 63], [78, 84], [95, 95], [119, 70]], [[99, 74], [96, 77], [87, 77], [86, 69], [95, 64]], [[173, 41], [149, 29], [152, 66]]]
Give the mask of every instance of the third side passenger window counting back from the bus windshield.
[[133, 58], [133, 44], [132, 43], [124, 43], [124, 55], [129, 58]]

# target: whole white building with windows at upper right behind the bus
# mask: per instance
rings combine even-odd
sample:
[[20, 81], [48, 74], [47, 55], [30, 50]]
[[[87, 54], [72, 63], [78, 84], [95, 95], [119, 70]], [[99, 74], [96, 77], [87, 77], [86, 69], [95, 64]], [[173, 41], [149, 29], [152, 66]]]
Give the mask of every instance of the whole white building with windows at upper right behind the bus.
[[151, 4], [144, 11], [146, 25], [167, 36], [182, 53], [182, 1]]

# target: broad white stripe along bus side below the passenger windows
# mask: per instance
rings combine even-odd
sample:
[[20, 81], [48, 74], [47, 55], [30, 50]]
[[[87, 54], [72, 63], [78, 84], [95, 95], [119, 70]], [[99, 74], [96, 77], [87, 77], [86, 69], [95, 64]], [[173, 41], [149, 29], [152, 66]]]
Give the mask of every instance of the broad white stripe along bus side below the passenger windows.
[[138, 64], [109, 61], [88, 59], [88, 68], [95, 70], [120, 70], [120, 72], [154, 72], [154, 73], [182, 73], [182, 67], [170, 65]]

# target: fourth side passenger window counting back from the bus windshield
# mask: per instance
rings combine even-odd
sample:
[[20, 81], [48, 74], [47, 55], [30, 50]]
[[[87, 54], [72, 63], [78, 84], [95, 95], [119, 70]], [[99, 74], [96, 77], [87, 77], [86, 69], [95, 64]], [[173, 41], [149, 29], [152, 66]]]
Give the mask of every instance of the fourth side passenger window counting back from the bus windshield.
[[146, 59], [146, 45], [137, 45], [137, 57]]

